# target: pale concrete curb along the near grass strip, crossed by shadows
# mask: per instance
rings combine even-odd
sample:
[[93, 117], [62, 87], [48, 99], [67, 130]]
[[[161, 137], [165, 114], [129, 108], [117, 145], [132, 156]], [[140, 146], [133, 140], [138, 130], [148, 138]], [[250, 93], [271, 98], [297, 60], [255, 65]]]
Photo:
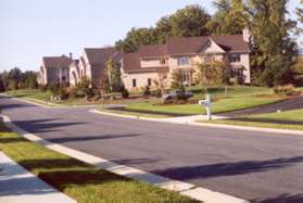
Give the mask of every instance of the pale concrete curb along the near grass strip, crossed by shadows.
[[61, 144], [56, 144], [50, 141], [47, 141], [42, 138], [39, 138], [38, 136], [34, 134], [29, 134], [18, 126], [16, 126], [13, 122], [11, 122], [10, 117], [7, 115], [1, 115], [3, 118], [3, 123], [17, 132], [18, 136], [24, 137], [27, 140], [30, 140], [33, 142], [39, 143], [41, 145], [45, 145], [48, 149], [51, 149], [53, 151], [56, 151], [59, 153], [68, 155], [71, 157], [77, 158], [81, 162], [94, 165], [96, 167], [104, 170], [109, 170], [111, 173], [117, 174], [119, 176], [125, 176], [127, 178], [137, 179], [140, 181], [149, 182], [153, 186], [172, 190], [175, 192], [179, 192], [180, 194], [190, 196], [192, 199], [202, 201], [204, 203], [249, 203], [247, 200], [242, 200], [236, 196], [231, 196], [228, 194], [215, 192], [209, 189], [204, 189], [201, 187], [197, 187], [191, 183], [173, 180], [163, 176], [154, 175], [144, 170], [140, 170], [137, 168], [128, 167], [125, 165], [119, 165], [116, 163], [113, 163], [111, 161], [90, 155], [88, 153], [84, 153], [71, 148], [66, 148]]

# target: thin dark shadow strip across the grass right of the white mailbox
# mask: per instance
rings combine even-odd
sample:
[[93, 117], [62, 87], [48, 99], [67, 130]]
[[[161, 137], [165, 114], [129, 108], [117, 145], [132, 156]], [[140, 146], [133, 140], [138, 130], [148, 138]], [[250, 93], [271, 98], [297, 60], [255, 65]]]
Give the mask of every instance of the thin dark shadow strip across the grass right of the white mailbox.
[[303, 125], [303, 120], [302, 122], [296, 122], [296, 120], [286, 120], [286, 119], [273, 119], [273, 118], [251, 118], [251, 117], [239, 117], [239, 118], [229, 118], [226, 120], [230, 120], [230, 122], [251, 122], [251, 123], [267, 123], [267, 124], [286, 124], [286, 125]]

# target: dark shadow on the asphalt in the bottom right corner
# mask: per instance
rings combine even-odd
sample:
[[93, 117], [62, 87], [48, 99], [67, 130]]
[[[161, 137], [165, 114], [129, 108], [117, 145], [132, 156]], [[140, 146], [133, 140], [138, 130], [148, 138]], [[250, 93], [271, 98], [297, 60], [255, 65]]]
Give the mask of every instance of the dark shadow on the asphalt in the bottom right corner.
[[303, 202], [303, 193], [301, 194], [281, 194], [276, 198], [265, 200], [251, 200], [251, 203], [300, 203]]

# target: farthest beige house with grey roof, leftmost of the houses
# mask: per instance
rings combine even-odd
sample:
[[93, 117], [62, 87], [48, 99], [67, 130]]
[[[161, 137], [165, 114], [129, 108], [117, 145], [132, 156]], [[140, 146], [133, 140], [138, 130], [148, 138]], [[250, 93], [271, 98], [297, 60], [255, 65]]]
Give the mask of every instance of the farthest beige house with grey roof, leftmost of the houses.
[[66, 55], [42, 58], [38, 83], [40, 85], [68, 83], [72, 61], [72, 54], [70, 58]]

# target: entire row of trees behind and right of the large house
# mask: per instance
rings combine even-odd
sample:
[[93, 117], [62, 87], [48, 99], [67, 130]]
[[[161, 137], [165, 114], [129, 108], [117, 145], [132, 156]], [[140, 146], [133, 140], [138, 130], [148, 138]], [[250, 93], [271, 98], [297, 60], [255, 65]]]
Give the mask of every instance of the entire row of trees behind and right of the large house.
[[[140, 45], [157, 45], [171, 37], [242, 34], [252, 35], [252, 83], [278, 86], [295, 80], [295, 56], [299, 54], [295, 35], [302, 34], [303, 9], [298, 8], [298, 21], [288, 17], [289, 0], [215, 0], [212, 16], [198, 4], [163, 16], [155, 26], [131, 28], [116, 48], [124, 52], [138, 51]], [[301, 0], [301, 4], [303, 1]]]

